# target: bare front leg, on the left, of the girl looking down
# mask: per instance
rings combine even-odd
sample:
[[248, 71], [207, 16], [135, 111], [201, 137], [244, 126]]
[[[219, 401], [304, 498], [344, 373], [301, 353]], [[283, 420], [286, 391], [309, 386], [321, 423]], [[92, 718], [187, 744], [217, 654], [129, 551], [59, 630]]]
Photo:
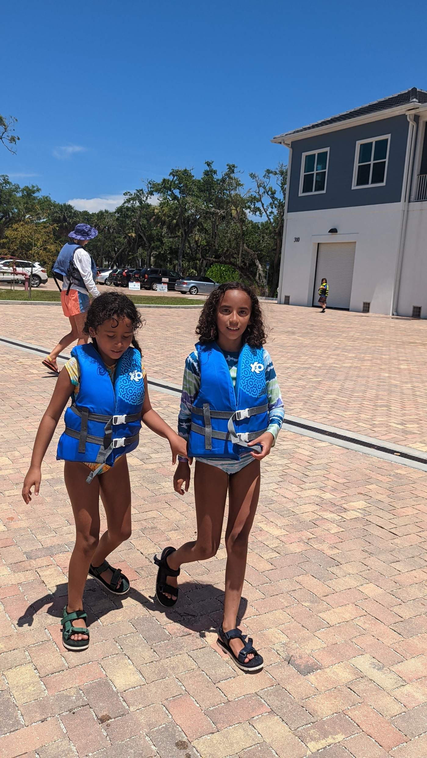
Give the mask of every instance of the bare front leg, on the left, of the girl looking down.
[[[83, 590], [93, 553], [99, 543], [99, 481], [86, 484], [89, 469], [84, 463], [65, 461], [64, 481], [76, 523], [76, 544], [68, 568], [68, 611], [83, 610]], [[81, 626], [82, 622], [71, 622]], [[86, 640], [86, 634], [72, 634], [72, 640]]]

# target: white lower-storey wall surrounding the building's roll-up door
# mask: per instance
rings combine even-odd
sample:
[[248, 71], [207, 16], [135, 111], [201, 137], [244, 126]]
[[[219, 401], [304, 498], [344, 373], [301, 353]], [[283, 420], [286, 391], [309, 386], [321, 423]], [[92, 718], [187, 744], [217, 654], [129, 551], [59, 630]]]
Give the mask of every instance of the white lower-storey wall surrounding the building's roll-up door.
[[[318, 244], [355, 242], [350, 310], [366, 301], [371, 313], [389, 314], [401, 218], [400, 203], [289, 213], [279, 302], [289, 295], [290, 305], [312, 305]], [[333, 227], [338, 234], [328, 234]]]

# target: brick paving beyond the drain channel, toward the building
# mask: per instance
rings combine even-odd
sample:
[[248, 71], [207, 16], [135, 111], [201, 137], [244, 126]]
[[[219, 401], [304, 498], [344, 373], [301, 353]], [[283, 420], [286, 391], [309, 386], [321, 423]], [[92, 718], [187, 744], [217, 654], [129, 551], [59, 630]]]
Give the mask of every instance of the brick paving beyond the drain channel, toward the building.
[[[268, 348], [289, 415], [427, 450], [427, 322], [265, 305]], [[140, 342], [152, 377], [180, 384], [198, 309], [144, 309]], [[50, 349], [60, 308], [0, 305], [0, 334]]]

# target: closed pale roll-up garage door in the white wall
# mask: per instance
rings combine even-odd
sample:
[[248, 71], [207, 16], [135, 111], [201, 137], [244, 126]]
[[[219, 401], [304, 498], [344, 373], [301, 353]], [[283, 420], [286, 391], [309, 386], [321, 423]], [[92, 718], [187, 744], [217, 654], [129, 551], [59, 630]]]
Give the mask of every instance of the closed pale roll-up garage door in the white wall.
[[319, 243], [313, 305], [319, 300], [320, 283], [326, 277], [329, 285], [328, 308], [350, 308], [355, 252], [355, 242]]

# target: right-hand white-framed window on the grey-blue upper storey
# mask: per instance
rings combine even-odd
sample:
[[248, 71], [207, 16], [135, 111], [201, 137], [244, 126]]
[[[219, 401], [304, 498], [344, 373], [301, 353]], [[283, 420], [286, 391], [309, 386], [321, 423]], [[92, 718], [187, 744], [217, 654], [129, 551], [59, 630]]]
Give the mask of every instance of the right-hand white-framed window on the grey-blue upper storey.
[[352, 189], [385, 185], [390, 136], [383, 134], [356, 142]]

